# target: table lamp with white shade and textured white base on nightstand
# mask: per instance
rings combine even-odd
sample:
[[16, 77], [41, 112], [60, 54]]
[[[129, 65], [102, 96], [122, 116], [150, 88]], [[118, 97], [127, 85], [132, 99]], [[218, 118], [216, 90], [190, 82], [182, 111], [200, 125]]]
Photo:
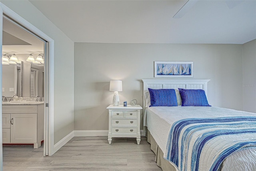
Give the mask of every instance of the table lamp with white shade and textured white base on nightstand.
[[119, 105], [118, 91], [122, 91], [122, 81], [121, 80], [110, 80], [109, 91], [114, 91], [113, 105]]

